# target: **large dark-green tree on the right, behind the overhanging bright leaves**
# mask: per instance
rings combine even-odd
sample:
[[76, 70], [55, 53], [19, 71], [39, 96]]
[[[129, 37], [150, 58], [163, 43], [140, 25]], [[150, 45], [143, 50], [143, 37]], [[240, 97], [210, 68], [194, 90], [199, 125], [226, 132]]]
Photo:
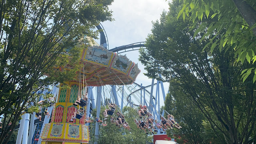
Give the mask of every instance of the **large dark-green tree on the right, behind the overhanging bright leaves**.
[[[210, 36], [193, 37], [189, 21], [177, 20], [181, 7], [178, 0], [163, 12], [160, 22], [153, 23], [152, 34], [139, 60], [145, 65], [146, 76], [170, 81], [180, 86], [209, 122], [214, 133], [228, 144], [255, 143], [255, 88], [252, 80], [240, 82], [241, 65], [233, 50], [210, 52]], [[217, 37], [221, 39], [221, 37]], [[205, 49], [202, 51], [202, 49]], [[221, 135], [220, 135], [221, 134]]]

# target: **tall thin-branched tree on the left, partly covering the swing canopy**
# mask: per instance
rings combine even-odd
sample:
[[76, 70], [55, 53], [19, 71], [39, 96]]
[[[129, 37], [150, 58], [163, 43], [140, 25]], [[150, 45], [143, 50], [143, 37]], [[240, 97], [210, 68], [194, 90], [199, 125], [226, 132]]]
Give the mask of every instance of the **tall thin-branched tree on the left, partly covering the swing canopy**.
[[[69, 81], [79, 70], [85, 36], [112, 20], [113, 0], [2, 0], [0, 2], [0, 143], [9, 140], [27, 101], [49, 84]], [[68, 50], [68, 55], [62, 52]], [[62, 55], [60, 55], [62, 53]], [[53, 69], [71, 65], [68, 71]], [[47, 74], [47, 76], [45, 76]], [[10, 118], [7, 115], [10, 114]], [[12, 125], [8, 126], [8, 123]]]

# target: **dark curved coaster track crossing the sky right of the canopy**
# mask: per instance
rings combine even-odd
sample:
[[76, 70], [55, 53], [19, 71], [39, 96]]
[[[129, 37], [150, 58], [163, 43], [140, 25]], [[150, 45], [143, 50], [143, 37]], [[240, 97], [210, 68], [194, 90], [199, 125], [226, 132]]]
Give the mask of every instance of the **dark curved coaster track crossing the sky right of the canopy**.
[[[121, 54], [123, 52], [129, 52], [129, 51], [132, 51], [132, 50], [139, 50], [139, 48], [141, 48], [141, 47], [145, 47], [145, 42], [136, 42], [136, 43], [133, 43], [133, 44], [118, 46], [116, 48], [110, 49], [109, 51], [117, 52], [118, 54]], [[127, 49], [129, 49], [129, 50], [127, 50]]]

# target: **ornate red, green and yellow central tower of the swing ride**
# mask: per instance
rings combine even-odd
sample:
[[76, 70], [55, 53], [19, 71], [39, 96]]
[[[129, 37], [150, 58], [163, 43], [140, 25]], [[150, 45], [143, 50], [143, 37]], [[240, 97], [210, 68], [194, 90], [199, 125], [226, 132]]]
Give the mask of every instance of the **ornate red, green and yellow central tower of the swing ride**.
[[[88, 126], [85, 125], [86, 114], [80, 119], [72, 115], [80, 106], [74, 106], [79, 93], [77, 82], [67, 82], [71, 89], [60, 89], [58, 102], [54, 106], [52, 120], [44, 126], [41, 133], [41, 144], [81, 144], [89, 143]], [[86, 107], [84, 107], [86, 111]]]

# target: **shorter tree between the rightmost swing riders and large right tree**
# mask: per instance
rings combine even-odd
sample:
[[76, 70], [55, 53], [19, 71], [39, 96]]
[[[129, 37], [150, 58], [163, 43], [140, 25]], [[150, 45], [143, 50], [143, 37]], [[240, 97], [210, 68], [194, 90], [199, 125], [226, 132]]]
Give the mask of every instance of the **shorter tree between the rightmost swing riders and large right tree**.
[[[175, 87], [175, 90], [172, 87]], [[170, 85], [170, 93], [164, 101], [164, 110], [171, 112], [170, 114], [175, 116], [176, 121], [179, 122], [182, 128], [180, 130], [174, 128], [168, 131], [167, 134], [171, 138], [175, 136], [178, 143], [183, 143], [184, 140], [187, 140], [188, 144], [200, 144], [203, 142], [202, 132], [204, 129], [202, 120], [204, 120], [204, 116], [192, 100], [184, 96], [182, 89], [177, 89], [177, 87]], [[178, 136], [180, 138], [177, 138]]]

